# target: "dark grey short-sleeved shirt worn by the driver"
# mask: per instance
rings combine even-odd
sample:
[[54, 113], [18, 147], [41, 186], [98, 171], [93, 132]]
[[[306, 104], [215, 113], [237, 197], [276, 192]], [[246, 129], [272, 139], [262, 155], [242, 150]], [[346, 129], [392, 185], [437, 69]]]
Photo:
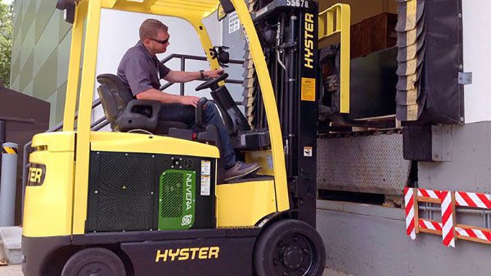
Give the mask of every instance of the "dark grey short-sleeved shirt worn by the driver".
[[142, 41], [129, 48], [117, 67], [117, 75], [126, 83], [133, 95], [148, 89], [160, 88], [160, 79], [171, 72], [155, 55], [151, 55]]

